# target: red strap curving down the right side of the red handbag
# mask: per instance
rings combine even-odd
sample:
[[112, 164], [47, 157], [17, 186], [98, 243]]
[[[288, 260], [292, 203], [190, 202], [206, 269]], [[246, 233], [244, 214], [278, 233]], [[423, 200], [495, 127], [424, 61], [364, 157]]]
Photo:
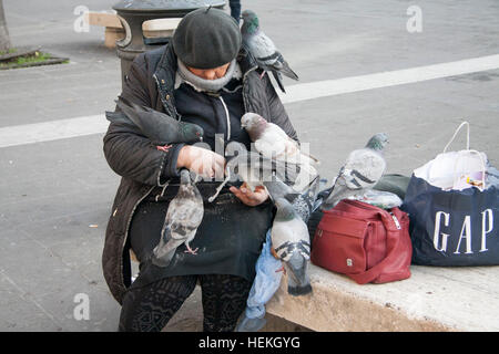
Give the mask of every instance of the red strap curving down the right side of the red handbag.
[[[373, 268], [366, 270], [363, 273], [358, 274], [348, 274], [349, 278], [354, 279], [359, 284], [366, 284], [375, 280], [381, 274], [383, 270], [387, 264], [391, 263], [394, 259], [398, 257], [398, 249], [400, 243], [400, 236], [398, 235], [398, 230], [401, 229], [400, 220], [398, 220], [397, 216], [393, 212], [385, 211], [380, 209], [378, 215], [381, 217], [383, 225], [386, 229], [386, 239], [387, 239], [387, 256], [383, 261]], [[389, 220], [388, 220], [389, 219]]]

